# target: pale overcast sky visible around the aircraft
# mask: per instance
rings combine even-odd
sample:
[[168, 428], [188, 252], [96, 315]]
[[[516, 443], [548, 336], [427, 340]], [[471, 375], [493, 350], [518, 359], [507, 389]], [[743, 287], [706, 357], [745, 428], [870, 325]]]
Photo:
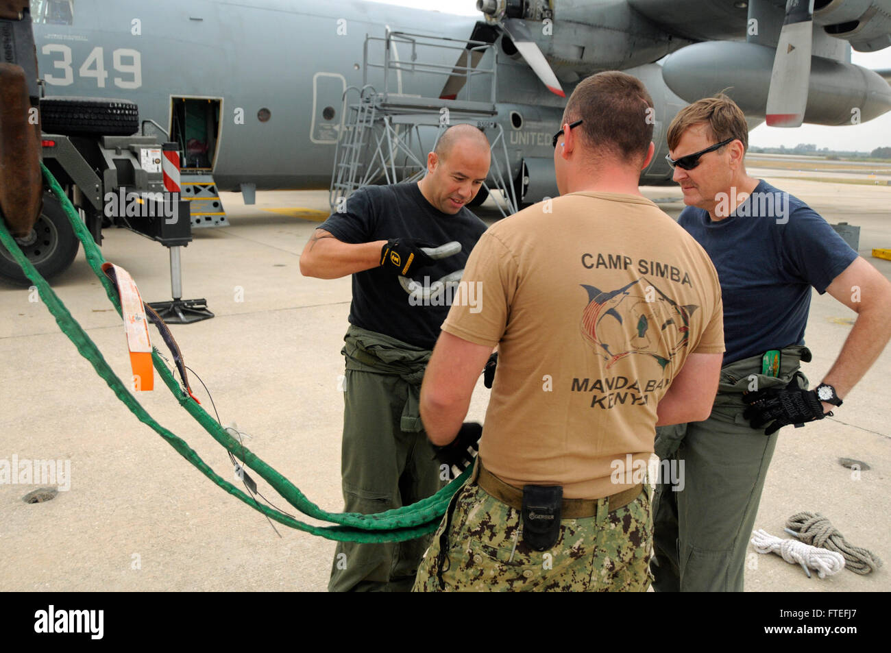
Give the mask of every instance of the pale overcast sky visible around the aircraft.
[[[388, 4], [429, 9], [429, 0], [377, 0]], [[480, 15], [476, 0], [440, 0], [440, 7], [451, 13], [467, 16]], [[470, 36], [470, 35], [468, 35]], [[851, 61], [870, 69], [891, 69], [891, 47], [878, 53], [853, 52]], [[798, 143], [815, 143], [818, 148], [828, 147], [830, 150], [871, 151], [879, 145], [891, 145], [891, 111], [870, 122], [847, 127], [824, 127], [822, 125], [803, 125], [795, 129], [767, 127], [762, 125], [752, 130], [749, 143], [757, 147], [795, 147]]]

